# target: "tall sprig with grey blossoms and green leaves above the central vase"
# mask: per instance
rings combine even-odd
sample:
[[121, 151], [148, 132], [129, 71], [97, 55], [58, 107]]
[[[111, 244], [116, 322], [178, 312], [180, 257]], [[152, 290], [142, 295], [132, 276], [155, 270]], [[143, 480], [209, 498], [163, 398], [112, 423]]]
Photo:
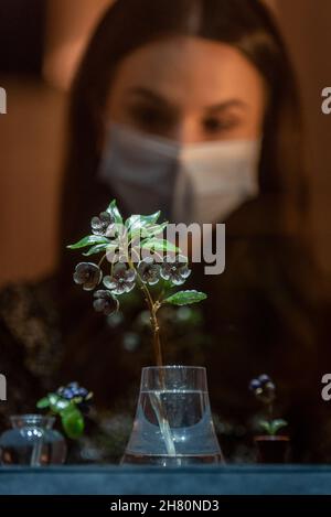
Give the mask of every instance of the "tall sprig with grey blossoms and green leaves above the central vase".
[[[79, 262], [74, 281], [94, 291], [94, 309], [109, 315], [119, 309], [120, 297], [138, 288], [143, 293], [153, 332], [157, 366], [163, 365], [158, 311], [164, 304], [186, 305], [206, 298], [203, 292], [178, 291], [191, 274], [188, 258], [169, 240], [160, 238], [168, 222], [158, 223], [160, 212], [131, 215], [124, 222], [114, 200], [93, 217], [92, 234], [70, 249], [87, 248], [83, 255], [100, 255], [97, 263]], [[104, 288], [98, 286], [103, 283]], [[98, 288], [98, 289], [96, 289]]]

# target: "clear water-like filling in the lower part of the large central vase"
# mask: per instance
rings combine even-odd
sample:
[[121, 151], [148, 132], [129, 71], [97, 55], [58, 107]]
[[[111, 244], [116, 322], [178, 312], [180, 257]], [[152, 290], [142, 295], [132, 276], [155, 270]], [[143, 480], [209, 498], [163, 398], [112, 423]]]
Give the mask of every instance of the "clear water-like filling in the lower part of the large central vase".
[[221, 461], [206, 391], [140, 392], [122, 463], [177, 466]]

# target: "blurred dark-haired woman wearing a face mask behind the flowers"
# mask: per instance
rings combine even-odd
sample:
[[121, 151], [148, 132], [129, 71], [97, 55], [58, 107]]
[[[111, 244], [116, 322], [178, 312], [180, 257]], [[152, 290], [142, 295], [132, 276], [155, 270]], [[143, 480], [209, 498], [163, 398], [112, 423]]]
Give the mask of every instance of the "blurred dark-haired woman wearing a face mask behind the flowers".
[[75, 378], [95, 392], [99, 414], [110, 411], [99, 417], [110, 433], [102, 454], [121, 454], [140, 368], [152, 363], [150, 336], [139, 301], [127, 301], [125, 321], [93, 312], [72, 281], [77, 257], [65, 249], [116, 197], [124, 215], [161, 208], [174, 222], [226, 223], [225, 272], [193, 267], [192, 286], [207, 301], [161, 313], [166, 362], [207, 367], [225, 455], [254, 460], [247, 385], [268, 373], [292, 460], [331, 459], [320, 399], [325, 309], [300, 235], [308, 197], [298, 91], [266, 8], [118, 0], [73, 84], [68, 140], [58, 271], [2, 294], [8, 411], [31, 409], [45, 389]]

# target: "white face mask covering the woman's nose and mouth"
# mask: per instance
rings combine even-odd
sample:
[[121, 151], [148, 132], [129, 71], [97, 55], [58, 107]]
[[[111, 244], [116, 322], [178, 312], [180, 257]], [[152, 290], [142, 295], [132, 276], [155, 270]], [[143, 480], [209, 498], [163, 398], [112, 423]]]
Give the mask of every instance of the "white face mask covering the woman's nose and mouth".
[[131, 214], [223, 223], [258, 194], [260, 140], [180, 144], [111, 123], [99, 177]]

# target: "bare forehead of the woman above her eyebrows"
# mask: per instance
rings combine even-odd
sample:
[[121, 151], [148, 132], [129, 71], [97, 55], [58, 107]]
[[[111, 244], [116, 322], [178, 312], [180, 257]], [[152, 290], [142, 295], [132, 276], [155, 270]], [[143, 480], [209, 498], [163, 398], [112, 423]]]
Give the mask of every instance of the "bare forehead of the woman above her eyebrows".
[[181, 106], [207, 108], [231, 99], [248, 103], [264, 91], [264, 79], [235, 47], [201, 37], [173, 37], [149, 43], [118, 66], [114, 94], [152, 91]]

